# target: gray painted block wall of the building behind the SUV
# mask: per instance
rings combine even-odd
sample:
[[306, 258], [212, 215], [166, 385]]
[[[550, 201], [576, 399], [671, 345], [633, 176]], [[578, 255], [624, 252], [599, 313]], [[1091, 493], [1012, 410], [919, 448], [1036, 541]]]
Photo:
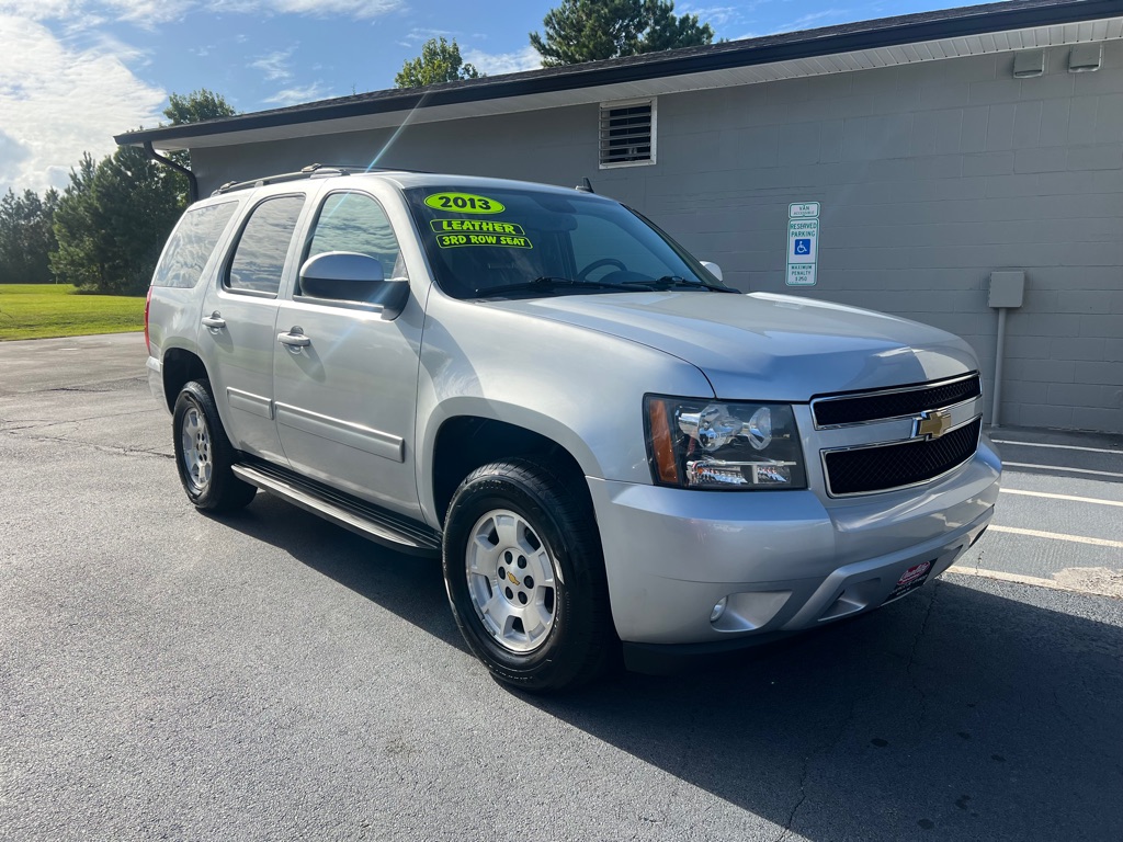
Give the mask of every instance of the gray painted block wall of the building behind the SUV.
[[[597, 170], [595, 106], [423, 123], [380, 162], [557, 184], [590, 176], [743, 290], [951, 330], [992, 387], [990, 272], [1026, 273], [1007, 319], [1005, 424], [1123, 432], [1123, 43], [1104, 66], [1012, 76], [1013, 54], [658, 99], [658, 163]], [[366, 163], [390, 131], [195, 153], [204, 184]], [[247, 164], [246, 162], [253, 162]], [[819, 283], [785, 286], [787, 205], [822, 203]]]

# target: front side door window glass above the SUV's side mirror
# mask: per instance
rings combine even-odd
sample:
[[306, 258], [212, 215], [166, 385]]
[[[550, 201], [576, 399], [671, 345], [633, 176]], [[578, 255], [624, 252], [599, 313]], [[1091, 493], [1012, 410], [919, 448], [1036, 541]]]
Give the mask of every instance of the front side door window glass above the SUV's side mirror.
[[385, 211], [366, 193], [332, 193], [323, 200], [304, 259], [325, 251], [356, 251], [382, 264], [386, 278], [404, 278], [405, 265]]

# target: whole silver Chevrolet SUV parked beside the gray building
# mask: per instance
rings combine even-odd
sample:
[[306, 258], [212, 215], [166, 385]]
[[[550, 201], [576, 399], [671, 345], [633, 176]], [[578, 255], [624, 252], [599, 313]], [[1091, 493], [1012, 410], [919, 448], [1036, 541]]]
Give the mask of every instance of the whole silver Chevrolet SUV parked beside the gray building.
[[742, 294], [587, 190], [227, 185], [164, 248], [147, 338], [195, 506], [264, 489], [441, 556], [468, 646], [532, 690], [896, 600], [998, 494], [962, 340]]

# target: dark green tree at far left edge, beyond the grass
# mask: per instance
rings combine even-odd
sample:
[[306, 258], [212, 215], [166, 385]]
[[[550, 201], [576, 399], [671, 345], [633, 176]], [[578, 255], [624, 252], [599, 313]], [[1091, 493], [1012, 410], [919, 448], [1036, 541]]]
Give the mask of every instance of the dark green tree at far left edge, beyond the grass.
[[0, 199], [0, 283], [51, 283], [48, 255], [55, 246], [51, 223], [57, 204], [55, 190], [40, 199], [30, 190], [17, 195], [9, 189]]

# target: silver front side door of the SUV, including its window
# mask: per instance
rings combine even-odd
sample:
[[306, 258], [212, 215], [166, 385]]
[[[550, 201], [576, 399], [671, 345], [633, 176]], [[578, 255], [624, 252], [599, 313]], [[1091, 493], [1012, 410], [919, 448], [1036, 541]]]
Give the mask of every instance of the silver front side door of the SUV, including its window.
[[[386, 213], [365, 192], [335, 191], [320, 203], [300, 263], [325, 251], [369, 255], [386, 278], [405, 277]], [[277, 431], [290, 465], [416, 518], [422, 315], [412, 296], [386, 320], [362, 302], [305, 295], [298, 278], [280, 305], [273, 368]]]

